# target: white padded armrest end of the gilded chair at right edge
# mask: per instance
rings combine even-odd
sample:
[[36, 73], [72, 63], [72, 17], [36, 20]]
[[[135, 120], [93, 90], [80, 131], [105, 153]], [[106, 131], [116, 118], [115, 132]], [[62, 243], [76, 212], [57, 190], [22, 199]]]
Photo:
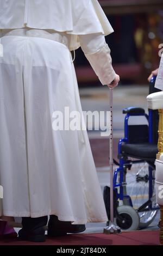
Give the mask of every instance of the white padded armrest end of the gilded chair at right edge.
[[150, 109], [163, 109], [163, 92], [149, 94], [147, 103]]

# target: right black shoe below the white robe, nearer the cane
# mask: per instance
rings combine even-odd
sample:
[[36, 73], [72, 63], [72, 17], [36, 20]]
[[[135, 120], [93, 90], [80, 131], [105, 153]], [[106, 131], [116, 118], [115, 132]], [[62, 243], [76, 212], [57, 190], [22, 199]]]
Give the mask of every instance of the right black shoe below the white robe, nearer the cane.
[[63, 236], [67, 233], [81, 233], [85, 231], [84, 224], [71, 224], [70, 221], [59, 221], [58, 217], [51, 215], [48, 222], [48, 236]]

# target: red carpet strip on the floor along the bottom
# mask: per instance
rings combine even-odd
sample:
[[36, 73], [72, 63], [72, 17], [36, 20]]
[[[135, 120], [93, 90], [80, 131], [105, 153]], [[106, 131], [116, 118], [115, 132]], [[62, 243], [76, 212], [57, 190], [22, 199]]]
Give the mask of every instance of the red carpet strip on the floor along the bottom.
[[46, 242], [34, 243], [27, 241], [2, 240], [0, 245], [160, 245], [159, 231], [131, 231], [121, 234], [76, 234], [47, 238]]

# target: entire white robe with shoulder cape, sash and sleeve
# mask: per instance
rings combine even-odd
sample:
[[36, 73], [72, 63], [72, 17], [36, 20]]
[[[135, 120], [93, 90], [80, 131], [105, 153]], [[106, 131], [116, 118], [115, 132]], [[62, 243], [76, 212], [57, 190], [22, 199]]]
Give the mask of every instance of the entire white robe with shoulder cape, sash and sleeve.
[[53, 112], [79, 111], [70, 50], [82, 46], [102, 84], [115, 78], [96, 0], [0, 0], [0, 185], [3, 215], [107, 220], [87, 132], [54, 131]]

